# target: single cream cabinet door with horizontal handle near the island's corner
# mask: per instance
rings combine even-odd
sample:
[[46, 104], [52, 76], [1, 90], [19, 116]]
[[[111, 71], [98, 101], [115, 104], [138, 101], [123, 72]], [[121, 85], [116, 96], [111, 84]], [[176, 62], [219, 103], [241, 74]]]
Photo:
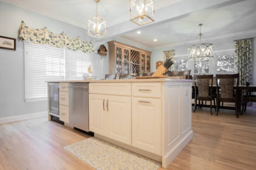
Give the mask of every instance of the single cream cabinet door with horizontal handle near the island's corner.
[[133, 97], [132, 145], [161, 154], [161, 99]]

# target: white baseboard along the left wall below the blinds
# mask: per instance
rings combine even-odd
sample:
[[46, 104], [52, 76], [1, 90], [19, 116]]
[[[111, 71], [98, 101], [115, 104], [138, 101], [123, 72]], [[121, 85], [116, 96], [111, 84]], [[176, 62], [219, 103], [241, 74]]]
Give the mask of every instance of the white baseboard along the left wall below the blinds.
[[22, 114], [18, 116], [1, 117], [0, 124], [6, 123], [6, 122], [25, 120], [28, 118], [42, 117], [42, 116], [47, 116], [47, 112], [35, 112], [30, 114]]

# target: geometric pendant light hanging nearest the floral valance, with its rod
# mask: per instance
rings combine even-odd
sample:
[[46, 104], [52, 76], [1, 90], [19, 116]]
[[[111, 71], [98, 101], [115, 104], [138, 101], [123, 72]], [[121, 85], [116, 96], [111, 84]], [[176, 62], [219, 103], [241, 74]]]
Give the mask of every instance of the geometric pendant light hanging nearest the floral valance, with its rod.
[[101, 38], [106, 36], [106, 20], [101, 18], [98, 15], [98, 2], [100, 0], [96, 0], [97, 2], [97, 13], [92, 16], [92, 18], [88, 19], [88, 36]]

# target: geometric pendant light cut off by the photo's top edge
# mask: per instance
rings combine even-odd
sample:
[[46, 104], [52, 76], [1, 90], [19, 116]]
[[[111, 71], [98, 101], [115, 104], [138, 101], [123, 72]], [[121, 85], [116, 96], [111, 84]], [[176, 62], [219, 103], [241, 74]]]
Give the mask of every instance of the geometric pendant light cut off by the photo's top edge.
[[130, 0], [130, 20], [138, 25], [155, 21], [154, 0]]

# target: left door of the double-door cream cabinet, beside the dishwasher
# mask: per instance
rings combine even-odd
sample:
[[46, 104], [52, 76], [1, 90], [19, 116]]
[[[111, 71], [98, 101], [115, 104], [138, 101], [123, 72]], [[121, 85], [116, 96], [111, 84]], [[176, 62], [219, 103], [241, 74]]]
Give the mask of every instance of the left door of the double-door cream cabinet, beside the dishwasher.
[[105, 95], [89, 94], [89, 130], [101, 135], [107, 131]]

